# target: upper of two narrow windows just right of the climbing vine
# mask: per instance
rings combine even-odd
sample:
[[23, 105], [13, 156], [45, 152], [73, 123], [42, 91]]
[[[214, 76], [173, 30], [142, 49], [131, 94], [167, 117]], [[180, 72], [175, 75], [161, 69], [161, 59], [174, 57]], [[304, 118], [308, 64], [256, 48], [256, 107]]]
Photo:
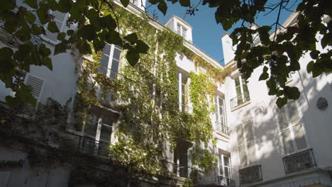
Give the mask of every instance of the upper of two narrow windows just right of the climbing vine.
[[221, 132], [228, 135], [223, 98], [221, 98], [218, 95], [215, 95], [214, 104], [216, 105], [216, 125], [214, 128], [216, 130], [221, 130]]

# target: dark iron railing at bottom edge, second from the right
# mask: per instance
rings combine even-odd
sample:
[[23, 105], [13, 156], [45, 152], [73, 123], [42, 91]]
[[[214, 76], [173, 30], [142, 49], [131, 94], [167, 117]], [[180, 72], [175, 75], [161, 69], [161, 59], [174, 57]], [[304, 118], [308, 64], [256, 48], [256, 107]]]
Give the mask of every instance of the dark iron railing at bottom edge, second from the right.
[[240, 184], [262, 181], [262, 171], [260, 169], [260, 165], [240, 169], [238, 174], [240, 175]]

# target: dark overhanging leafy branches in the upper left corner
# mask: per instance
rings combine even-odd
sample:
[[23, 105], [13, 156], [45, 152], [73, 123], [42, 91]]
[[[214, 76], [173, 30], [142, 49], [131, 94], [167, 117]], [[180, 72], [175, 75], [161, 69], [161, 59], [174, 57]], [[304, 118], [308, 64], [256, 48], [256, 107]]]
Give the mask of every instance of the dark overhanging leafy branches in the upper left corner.
[[[124, 6], [127, 1], [121, 1]], [[128, 62], [135, 65], [139, 54], [148, 51], [148, 45], [130, 36], [120, 37], [117, 28], [116, 15], [103, 14], [105, 8], [114, 9], [114, 5], [106, 0], [25, 0], [18, 4], [13, 0], [5, 0], [5, 6], [0, 9], [1, 32], [8, 36], [3, 40], [9, 47], [0, 48], [0, 79], [6, 88], [12, 89], [15, 96], [7, 96], [6, 101], [11, 106], [19, 103], [35, 104], [31, 91], [23, 84], [25, 72], [30, 71], [31, 65], [46, 66], [52, 70], [50, 55], [57, 55], [67, 50], [78, 50], [81, 54], [92, 53], [88, 42], [94, 50], [101, 50], [105, 43], [116, 44], [128, 50]], [[59, 28], [52, 12], [69, 15], [64, 31]], [[70, 30], [72, 26], [77, 29]], [[68, 30], [69, 29], [69, 30]], [[57, 33], [55, 47], [45, 45], [43, 37], [50, 33]], [[53, 52], [51, 52], [53, 50]]]

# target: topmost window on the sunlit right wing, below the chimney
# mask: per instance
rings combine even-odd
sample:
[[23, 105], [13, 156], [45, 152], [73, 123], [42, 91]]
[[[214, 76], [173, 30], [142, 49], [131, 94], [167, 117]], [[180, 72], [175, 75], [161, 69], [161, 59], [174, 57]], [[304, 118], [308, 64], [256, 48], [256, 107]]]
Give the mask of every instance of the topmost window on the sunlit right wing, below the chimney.
[[250, 101], [249, 91], [245, 79], [241, 76], [235, 79], [236, 97], [231, 99], [231, 108], [234, 108], [246, 101]]

